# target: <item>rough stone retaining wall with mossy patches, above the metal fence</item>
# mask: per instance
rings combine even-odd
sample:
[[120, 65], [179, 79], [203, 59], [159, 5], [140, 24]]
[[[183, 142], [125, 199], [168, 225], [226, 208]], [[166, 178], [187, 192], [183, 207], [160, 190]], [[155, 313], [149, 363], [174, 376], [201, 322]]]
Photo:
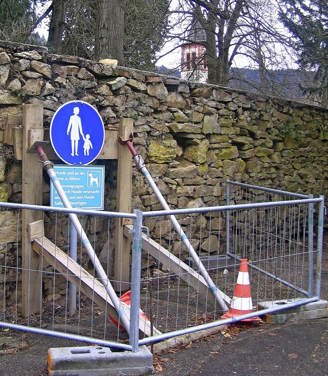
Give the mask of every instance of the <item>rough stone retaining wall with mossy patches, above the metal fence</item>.
[[[227, 179], [327, 193], [325, 108], [0, 42], [1, 134], [7, 115], [21, 114], [22, 104], [42, 103], [46, 128], [56, 109], [73, 100], [95, 106], [107, 130], [133, 118], [134, 145], [172, 208], [224, 204]], [[1, 150], [0, 201], [19, 202], [20, 163], [6, 145]], [[116, 164], [106, 166], [105, 209], [115, 210]], [[47, 204], [47, 179], [44, 192]], [[132, 194], [133, 208], [160, 209], [137, 171]]]

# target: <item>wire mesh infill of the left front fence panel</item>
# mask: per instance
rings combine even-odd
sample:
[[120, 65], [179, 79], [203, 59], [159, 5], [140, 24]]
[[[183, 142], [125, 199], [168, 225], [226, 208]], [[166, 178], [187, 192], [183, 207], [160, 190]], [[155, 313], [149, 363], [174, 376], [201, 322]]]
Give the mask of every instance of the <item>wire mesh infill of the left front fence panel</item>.
[[[32, 213], [31, 213], [32, 214]], [[121, 343], [128, 343], [128, 334], [119, 330], [110, 318], [110, 305], [106, 303], [106, 290], [99, 282], [97, 272], [86, 253], [81, 240], [77, 238], [77, 260], [73, 267], [70, 254], [70, 220], [68, 214], [42, 212], [45, 235], [38, 240], [40, 254], [40, 283], [33, 284], [40, 297], [38, 312], [24, 318], [22, 315], [22, 210], [2, 208], [0, 236], [0, 321], [50, 331], [72, 333]], [[104, 270], [113, 280], [113, 229], [115, 222], [111, 217], [78, 215], [83, 229], [88, 234], [96, 255]], [[32, 215], [31, 215], [31, 222]], [[123, 236], [123, 235], [122, 235]], [[52, 243], [50, 247], [49, 241]], [[49, 262], [49, 250], [56, 260]], [[30, 252], [35, 252], [32, 249]], [[25, 269], [35, 274], [33, 268]], [[81, 279], [81, 276], [84, 279]], [[70, 282], [76, 286], [74, 309], [70, 307]], [[31, 281], [32, 282], [32, 281]], [[85, 285], [89, 285], [86, 288]], [[97, 296], [96, 286], [100, 285], [103, 299]], [[95, 289], [93, 291], [93, 289]], [[30, 290], [27, 292], [30, 293]], [[117, 295], [120, 295], [120, 291]], [[4, 334], [4, 332], [3, 332]], [[92, 340], [91, 340], [92, 342]]]

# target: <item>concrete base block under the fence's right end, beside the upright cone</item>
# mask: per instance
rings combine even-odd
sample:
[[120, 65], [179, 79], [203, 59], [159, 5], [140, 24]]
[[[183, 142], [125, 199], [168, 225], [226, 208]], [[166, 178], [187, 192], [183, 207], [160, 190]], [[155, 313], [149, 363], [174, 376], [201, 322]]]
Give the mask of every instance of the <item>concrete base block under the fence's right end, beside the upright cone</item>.
[[[273, 307], [282, 307], [284, 304], [300, 301], [302, 299], [286, 299], [273, 302], [258, 303], [257, 309], [266, 309]], [[261, 315], [261, 312], [259, 312]], [[288, 321], [300, 321], [320, 319], [328, 316], [328, 302], [319, 300], [317, 302], [306, 303], [298, 307], [282, 309], [281, 311], [265, 315], [265, 321], [270, 324], [281, 324]]]

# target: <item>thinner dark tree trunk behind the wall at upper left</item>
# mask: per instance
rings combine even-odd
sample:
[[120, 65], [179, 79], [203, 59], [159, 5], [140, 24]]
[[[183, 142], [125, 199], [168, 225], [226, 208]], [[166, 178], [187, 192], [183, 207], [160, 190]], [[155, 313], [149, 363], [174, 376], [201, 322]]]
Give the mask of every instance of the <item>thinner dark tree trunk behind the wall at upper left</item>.
[[61, 41], [65, 28], [67, 0], [53, 0], [49, 25], [48, 46], [51, 52], [61, 53]]

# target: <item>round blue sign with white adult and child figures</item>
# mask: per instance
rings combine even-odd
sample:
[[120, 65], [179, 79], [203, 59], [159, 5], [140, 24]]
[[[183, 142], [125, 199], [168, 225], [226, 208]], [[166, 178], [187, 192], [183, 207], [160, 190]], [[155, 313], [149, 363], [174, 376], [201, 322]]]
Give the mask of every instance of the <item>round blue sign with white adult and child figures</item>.
[[67, 102], [52, 117], [50, 142], [61, 161], [69, 165], [88, 165], [104, 146], [103, 120], [89, 103]]

